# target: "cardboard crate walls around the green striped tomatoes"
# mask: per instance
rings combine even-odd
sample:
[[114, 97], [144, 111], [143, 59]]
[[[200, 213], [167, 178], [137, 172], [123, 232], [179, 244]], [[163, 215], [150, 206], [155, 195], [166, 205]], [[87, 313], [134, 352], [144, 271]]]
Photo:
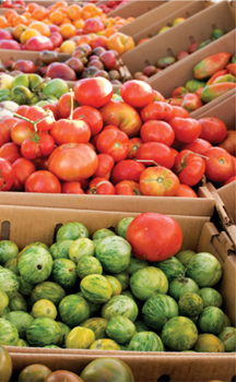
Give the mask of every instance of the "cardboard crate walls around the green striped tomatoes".
[[[57, 228], [66, 223], [84, 224], [90, 235], [99, 228], [116, 228], [120, 219], [138, 214], [76, 211], [66, 208], [38, 208], [1, 205], [1, 239], [14, 241], [20, 249], [28, 242], [54, 242]], [[24, 224], [22, 224], [24, 216]], [[169, 215], [172, 216], [172, 215]], [[223, 275], [216, 286], [223, 297], [222, 309], [236, 323], [236, 258], [232, 242], [225, 231], [219, 232], [213, 223], [204, 216], [174, 216], [182, 231], [181, 249], [210, 252], [221, 263]], [[135, 382], [156, 382], [168, 377], [176, 382], [203, 382], [221, 379], [232, 381], [235, 377], [235, 355], [226, 353], [176, 353], [176, 351], [125, 351], [91, 349], [49, 349], [7, 346], [14, 375], [31, 363], [44, 363], [51, 370], [67, 369], [78, 374], [92, 360], [99, 357], [117, 357], [132, 370]]]

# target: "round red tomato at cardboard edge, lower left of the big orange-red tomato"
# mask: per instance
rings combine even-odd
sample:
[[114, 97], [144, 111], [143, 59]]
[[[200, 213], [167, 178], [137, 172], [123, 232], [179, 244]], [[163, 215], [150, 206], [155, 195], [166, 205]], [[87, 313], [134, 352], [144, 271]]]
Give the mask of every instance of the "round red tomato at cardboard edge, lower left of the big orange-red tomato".
[[60, 193], [61, 184], [52, 172], [38, 170], [26, 179], [25, 192]]

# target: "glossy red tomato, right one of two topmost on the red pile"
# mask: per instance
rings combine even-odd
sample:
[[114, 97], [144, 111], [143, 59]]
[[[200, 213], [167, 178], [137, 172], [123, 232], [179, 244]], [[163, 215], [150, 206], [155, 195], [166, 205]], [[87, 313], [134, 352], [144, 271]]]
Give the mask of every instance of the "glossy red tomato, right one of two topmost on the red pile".
[[132, 107], [144, 107], [154, 100], [152, 86], [139, 80], [125, 82], [120, 87], [120, 95]]

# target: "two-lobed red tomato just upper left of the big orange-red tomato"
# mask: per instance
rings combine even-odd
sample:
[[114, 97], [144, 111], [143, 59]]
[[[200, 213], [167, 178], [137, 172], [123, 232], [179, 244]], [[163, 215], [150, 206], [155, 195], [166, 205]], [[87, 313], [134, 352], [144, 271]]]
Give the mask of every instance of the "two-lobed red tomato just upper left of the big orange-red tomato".
[[55, 140], [51, 135], [42, 132], [32, 138], [26, 138], [21, 145], [21, 153], [27, 159], [45, 157], [55, 150]]

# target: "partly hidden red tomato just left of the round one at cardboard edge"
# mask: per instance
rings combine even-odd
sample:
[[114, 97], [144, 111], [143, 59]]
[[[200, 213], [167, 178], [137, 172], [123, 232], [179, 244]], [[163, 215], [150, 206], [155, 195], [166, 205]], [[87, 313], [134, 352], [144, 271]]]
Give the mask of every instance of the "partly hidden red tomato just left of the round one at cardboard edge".
[[26, 179], [31, 174], [36, 171], [36, 166], [30, 159], [19, 158], [13, 163], [12, 167], [14, 168], [15, 176], [11, 191], [22, 191], [24, 190]]

